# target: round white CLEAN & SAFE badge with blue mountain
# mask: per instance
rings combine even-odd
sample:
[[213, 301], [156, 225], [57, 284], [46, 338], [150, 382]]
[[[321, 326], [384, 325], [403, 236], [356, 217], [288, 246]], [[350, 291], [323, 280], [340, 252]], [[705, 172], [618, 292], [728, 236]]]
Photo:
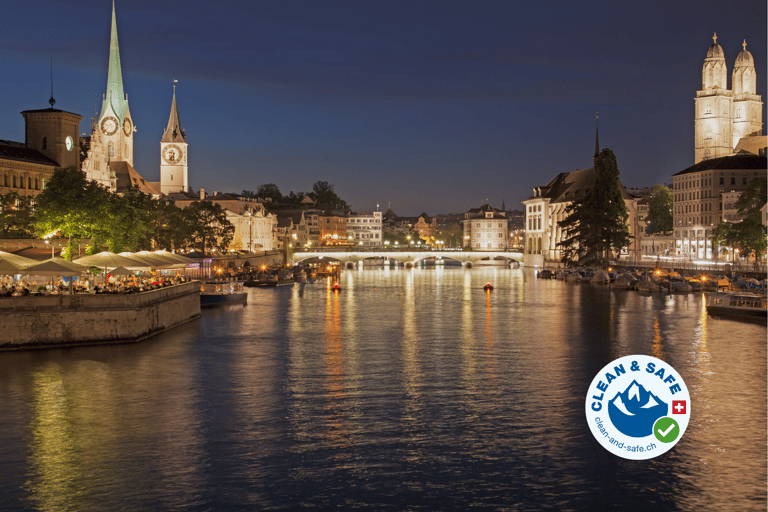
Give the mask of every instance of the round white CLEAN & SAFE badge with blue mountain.
[[644, 460], [670, 450], [691, 418], [691, 398], [680, 375], [651, 356], [607, 364], [587, 391], [587, 424], [614, 455]]

